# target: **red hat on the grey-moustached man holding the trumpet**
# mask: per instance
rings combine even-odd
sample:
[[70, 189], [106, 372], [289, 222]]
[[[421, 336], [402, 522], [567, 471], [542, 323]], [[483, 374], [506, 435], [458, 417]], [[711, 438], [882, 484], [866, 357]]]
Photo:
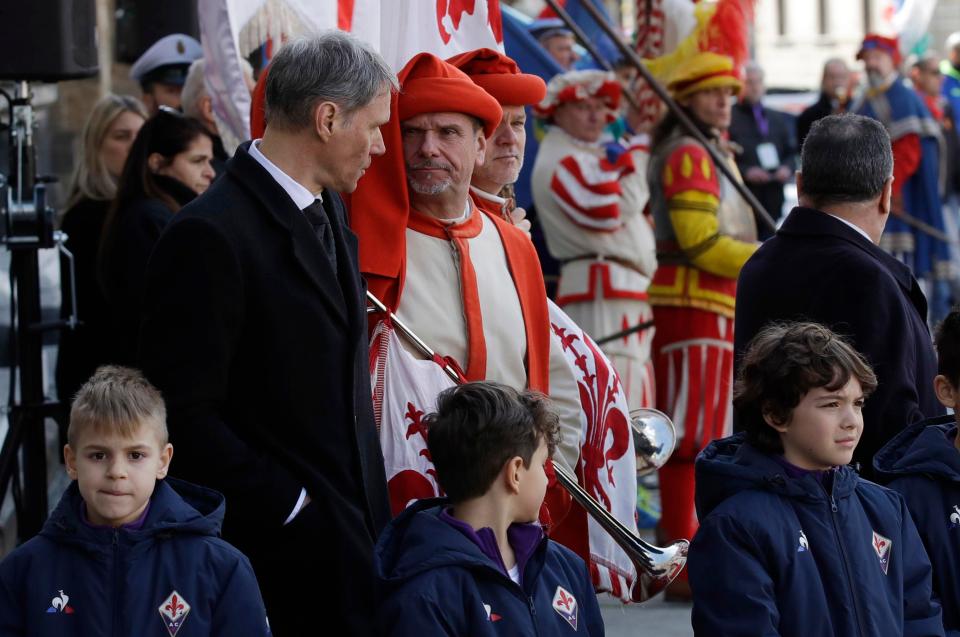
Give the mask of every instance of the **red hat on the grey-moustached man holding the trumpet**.
[[483, 122], [486, 137], [500, 125], [503, 110], [497, 100], [466, 73], [432, 53], [416, 55], [398, 76], [397, 114], [401, 122], [424, 113], [463, 113]]

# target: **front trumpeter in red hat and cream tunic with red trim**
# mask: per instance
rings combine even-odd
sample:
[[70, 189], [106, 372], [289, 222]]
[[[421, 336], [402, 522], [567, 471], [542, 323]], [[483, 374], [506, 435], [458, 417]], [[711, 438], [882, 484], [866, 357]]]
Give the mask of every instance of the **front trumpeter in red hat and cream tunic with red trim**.
[[[551, 369], [559, 366], [551, 365], [536, 251], [522, 230], [481, 212], [470, 197], [503, 110], [465, 73], [429, 53], [408, 62], [399, 79], [402, 90], [383, 127], [386, 154], [352, 196], [354, 209], [364, 211], [352, 227], [370, 291], [467, 380], [549, 393]], [[574, 416], [561, 420], [556, 457], [568, 468], [579, 457]], [[554, 524], [569, 504], [552, 485]]]

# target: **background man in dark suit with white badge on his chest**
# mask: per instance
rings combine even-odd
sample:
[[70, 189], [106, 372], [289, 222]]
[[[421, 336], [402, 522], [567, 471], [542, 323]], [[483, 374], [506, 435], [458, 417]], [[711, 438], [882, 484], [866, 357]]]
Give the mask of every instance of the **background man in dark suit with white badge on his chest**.
[[[774, 219], [783, 214], [783, 185], [796, 170], [797, 141], [787, 115], [763, 105], [763, 69], [750, 62], [740, 101], [730, 114], [730, 139], [742, 148], [737, 168]], [[766, 236], [769, 236], [767, 233]], [[761, 233], [761, 239], [765, 239]]]

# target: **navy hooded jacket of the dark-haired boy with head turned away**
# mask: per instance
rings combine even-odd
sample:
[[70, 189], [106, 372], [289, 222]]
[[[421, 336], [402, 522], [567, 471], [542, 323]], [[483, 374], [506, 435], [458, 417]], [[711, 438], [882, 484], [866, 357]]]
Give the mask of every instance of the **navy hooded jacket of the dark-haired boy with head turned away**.
[[446, 505], [444, 499], [416, 502], [380, 536], [374, 556], [380, 634], [603, 635], [597, 596], [577, 555], [544, 537], [518, 586], [474, 542], [440, 519]]

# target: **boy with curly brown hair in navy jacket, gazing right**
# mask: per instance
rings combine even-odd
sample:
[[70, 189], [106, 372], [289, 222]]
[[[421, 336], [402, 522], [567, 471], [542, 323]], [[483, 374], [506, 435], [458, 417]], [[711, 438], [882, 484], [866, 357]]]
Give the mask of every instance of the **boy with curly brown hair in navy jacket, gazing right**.
[[751, 341], [734, 392], [745, 430], [696, 461], [697, 635], [943, 635], [903, 498], [846, 466], [876, 382], [817, 324], [774, 324]]

